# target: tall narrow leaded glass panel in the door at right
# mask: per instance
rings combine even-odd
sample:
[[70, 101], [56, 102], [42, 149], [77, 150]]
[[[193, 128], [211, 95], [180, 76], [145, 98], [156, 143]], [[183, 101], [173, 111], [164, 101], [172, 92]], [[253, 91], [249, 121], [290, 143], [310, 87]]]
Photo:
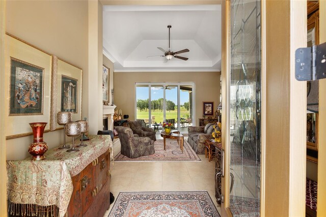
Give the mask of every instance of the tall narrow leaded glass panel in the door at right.
[[230, 210], [260, 215], [260, 1], [230, 1]]

